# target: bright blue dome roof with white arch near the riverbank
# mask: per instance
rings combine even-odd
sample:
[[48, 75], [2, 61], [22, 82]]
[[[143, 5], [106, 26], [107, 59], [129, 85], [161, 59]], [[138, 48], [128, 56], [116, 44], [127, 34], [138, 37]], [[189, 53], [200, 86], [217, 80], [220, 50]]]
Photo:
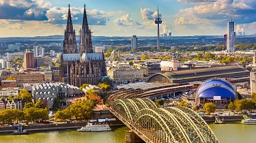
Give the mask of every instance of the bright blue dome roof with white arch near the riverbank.
[[221, 98], [235, 98], [236, 91], [229, 82], [221, 80], [220, 78], [212, 78], [199, 86], [197, 95], [199, 98], [213, 98], [214, 96], [221, 96]]

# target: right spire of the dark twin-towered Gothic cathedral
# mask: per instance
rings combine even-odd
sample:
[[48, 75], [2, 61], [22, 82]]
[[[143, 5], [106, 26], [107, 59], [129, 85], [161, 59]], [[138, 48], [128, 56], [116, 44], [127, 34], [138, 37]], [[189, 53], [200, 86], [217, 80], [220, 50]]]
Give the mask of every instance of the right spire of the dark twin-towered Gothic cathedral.
[[[85, 7], [85, 5], [84, 5]], [[83, 12], [83, 26], [79, 31], [80, 39], [79, 39], [79, 52], [81, 54], [92, 53], [92, 42], [91, 42], [91, 29], [89, 29], [86, 9]]]

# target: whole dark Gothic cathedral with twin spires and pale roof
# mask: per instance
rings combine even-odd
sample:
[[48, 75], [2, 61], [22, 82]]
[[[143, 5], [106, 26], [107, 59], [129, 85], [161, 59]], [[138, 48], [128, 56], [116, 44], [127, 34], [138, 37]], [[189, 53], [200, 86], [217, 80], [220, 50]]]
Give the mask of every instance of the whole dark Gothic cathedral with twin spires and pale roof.
[[106, 76], [106, 64], [103, 52], [92, 50], [91, 30], [88, 26], [86, 9], [83, 14], [83, 26], [79, 31], [79, 51], [76, 48], [76, 33], [73, 29], [68, 5], [67, 27], [64, 33], [63, 54], [59, 67], [59, 82], [81, 86], [84, 83], [98, 84]]

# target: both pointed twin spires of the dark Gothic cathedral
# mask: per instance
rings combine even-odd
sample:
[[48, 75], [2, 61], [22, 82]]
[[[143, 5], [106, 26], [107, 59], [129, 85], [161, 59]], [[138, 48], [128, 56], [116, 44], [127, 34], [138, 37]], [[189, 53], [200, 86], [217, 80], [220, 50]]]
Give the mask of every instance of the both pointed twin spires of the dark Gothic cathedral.
[[[91, 30], [89, 29], [89, 26], [88, 26], [86, 9], [84, 9], [83, 25], [82, 25], [82, 29], [79, 31], [79, 35], [80, 35], [79, 52], [81, 54], [83, 54], [84, 52], [86, 53], [93, 52], [92, 42], [91, 42]], [[63, 53], [64, 54], [77, 53], [76, 35], [75, 35], [75, 31], [73, 30], [72, 17], [70, 13], [70, 5], [68, 5], [68, 20], [67, 20], [67, 27], [66, 27], [64, 41], [63, 41]]]

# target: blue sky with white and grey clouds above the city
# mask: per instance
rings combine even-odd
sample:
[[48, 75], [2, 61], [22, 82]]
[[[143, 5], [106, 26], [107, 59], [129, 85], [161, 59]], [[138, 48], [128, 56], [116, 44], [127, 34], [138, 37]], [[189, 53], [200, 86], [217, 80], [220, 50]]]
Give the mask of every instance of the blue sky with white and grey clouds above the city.
[[68, 4], [76, 35], [86, 5], [95, 36], [223, 35], [232, 20], [236, 32], [256, 33], [255, 0], [0, 0], [0, 37], [63, 35]]

